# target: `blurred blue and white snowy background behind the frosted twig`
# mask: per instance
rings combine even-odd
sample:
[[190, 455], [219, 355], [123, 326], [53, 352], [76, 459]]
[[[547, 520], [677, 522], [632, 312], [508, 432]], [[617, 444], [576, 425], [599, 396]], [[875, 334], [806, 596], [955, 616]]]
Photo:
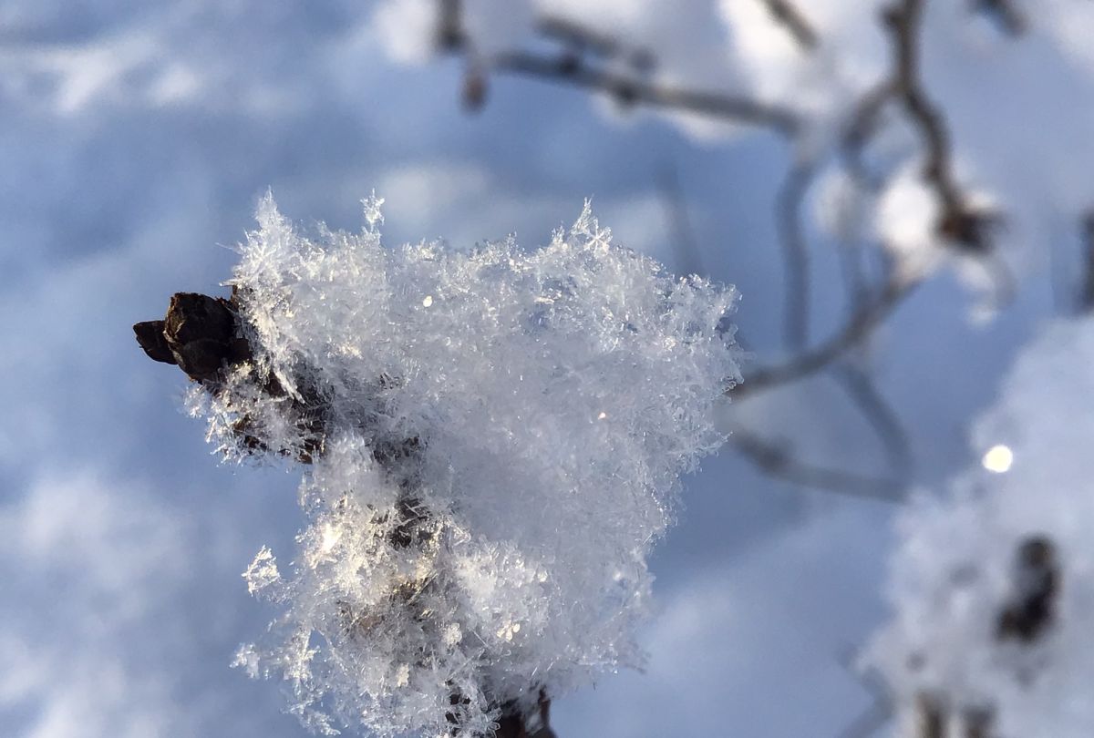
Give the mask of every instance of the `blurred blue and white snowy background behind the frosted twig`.
[[743, 393], [686, 480], [645, 672], [552, 725], [835, 738], [877, 707], [849, 664], [900, 501], [980, 462], [1014, 353], [1084, 308], [1094, 10], [799, 5], [0, 4], [0, 735], [304, 735], [229, 668], [299, 472], [220, 465], [130, 327], [221, 294], [267, 188], [348, 230], [375, 189], [388, 244], [453, 248], [545, 244], [592, 198], [618, 243], [736, 284], [743, 387], [808, 371]]

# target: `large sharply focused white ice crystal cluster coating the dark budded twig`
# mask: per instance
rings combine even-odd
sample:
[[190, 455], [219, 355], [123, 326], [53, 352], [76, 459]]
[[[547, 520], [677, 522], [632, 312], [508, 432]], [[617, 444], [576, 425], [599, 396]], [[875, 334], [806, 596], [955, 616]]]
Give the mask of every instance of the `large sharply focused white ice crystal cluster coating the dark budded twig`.
[[260, 203], [231, 280], [253, 359], [195, 390], [230, 455], [309, 462], [298, 550], [245, 573], [281, 614], [236, 661], [319, 733], [488, 735], [641, 661], [647, 554], [724, 440], [735, 292], [587, 204], [543, 248], [461, 251], [382, 246], [380, 203], [311, 236]]

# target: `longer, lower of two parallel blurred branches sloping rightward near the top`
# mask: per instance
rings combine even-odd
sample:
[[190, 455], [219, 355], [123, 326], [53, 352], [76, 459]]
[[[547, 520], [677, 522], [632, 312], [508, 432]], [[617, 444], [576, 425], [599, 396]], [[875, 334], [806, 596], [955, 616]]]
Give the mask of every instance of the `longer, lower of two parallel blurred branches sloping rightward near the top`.
[[490, 69], [605, 92], [628, 105], [688, 110], [769, 128], [787, 137], [800, 127], [798, 115], [789, 108], [723, 93], [655, 84], [636, 74], [594, 69], [567, 55], [550, 57], [523, 50], [502, 52], [490, 59]]

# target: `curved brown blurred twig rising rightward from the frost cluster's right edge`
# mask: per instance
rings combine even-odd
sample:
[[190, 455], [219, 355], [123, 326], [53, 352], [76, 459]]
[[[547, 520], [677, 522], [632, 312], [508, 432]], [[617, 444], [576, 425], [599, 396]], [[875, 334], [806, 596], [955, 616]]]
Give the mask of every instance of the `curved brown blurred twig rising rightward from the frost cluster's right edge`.
[[854, 311], [839, 332], [826, 342], [792, 358], [784, 364], [755, 370], [745, 383], [726, 390], [726, 394], [734, 398], [746, 397], [804, 378], [827, 367], [868, 338], [878, 325], [888, 318], [917, 284], [918, 282], [908, 282], [895, 276], [892, 277], [881, 293]]

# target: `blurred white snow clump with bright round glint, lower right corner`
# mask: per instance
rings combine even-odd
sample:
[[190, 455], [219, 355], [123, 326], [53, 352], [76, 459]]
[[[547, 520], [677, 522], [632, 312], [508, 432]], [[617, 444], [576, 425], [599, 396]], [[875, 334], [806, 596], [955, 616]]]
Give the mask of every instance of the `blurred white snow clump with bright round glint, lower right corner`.
[[990, 727], [954, 735], [1094, 735], [1092, 438], [1094, 318], [1059, 321], [977, 424], [984, 469], [901, 522], [896, 614], [868, 661], [907, 722], [933, 710]]

